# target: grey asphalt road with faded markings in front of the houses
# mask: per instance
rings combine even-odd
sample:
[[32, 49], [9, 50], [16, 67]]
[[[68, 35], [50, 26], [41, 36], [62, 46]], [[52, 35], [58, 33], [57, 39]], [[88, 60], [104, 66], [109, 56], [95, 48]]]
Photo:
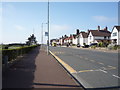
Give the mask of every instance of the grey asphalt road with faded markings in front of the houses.
[[50, 50], [76, 71], [71, 74], [85, 88], [120, 86], [118, 53], [67, 47], [50, 47]]

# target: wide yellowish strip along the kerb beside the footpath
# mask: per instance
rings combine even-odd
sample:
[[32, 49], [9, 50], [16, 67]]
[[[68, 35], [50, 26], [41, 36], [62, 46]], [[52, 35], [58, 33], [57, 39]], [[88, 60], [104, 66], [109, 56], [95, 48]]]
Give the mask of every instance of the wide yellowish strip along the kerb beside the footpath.
[[49, 51], [55, 58], [56, 60], [59, 61], [70, 73], [77, 73], [76, 70], [74, 70], [71, 66], [69, 66], [67, 63], [65, 63], [63, 60], [61, 60], [59, 57], [57, 57], [55, 54], [53, 54], [51, 51]]

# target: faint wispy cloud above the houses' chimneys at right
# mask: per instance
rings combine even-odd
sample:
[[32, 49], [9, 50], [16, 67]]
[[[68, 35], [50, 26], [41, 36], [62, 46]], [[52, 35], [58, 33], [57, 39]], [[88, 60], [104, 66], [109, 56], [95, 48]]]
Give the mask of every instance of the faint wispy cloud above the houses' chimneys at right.
[[116, 17], [106, 17], [106, 16], [93, 16], [93, 19], [97, 22], [101, 22], [101, 23], [109, 23], [109, 22], [117, 22], [117, 18]]

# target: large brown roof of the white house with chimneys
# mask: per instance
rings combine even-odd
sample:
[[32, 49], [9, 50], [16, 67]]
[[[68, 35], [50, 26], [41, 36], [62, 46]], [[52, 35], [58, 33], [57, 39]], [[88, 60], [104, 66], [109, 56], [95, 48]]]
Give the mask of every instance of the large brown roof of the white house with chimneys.
[[89, 30], [93, 36], [99, 36], [99, 37], [104, 37], [104, 36], [110, 36], [111, 33], [106, 30]]

